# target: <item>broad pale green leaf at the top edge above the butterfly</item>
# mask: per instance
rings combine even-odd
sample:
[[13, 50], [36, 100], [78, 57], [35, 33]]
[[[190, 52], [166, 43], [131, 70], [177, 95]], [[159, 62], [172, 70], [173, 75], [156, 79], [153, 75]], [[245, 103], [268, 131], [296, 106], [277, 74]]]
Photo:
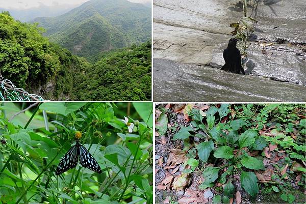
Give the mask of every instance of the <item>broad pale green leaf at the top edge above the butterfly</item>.
[[67, 116], [69, 113], [79, 110], [85, 104], [86, 102], [44, 102], [39, 106], [39, 109]]

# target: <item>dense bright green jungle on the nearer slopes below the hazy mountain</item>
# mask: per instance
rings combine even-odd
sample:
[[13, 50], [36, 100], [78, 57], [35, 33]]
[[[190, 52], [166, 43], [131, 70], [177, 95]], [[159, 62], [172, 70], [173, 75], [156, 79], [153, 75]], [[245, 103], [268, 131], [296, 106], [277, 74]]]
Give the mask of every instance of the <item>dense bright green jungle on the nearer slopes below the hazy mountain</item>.
[[91, 64], [49, 42], [43, 32], [0, 13], [0, 69], [18, 88], [48, 100], [151, 99], [150, 42], [97, 53]]

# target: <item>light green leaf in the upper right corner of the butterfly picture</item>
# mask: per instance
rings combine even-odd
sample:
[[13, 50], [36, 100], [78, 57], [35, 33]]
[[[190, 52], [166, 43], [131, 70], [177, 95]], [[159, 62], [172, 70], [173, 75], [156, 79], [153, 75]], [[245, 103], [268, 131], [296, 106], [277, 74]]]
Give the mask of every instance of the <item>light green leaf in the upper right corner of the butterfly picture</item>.
[[153, 127], [153, 103], [133, 102], [133, 106], [148, 127]]

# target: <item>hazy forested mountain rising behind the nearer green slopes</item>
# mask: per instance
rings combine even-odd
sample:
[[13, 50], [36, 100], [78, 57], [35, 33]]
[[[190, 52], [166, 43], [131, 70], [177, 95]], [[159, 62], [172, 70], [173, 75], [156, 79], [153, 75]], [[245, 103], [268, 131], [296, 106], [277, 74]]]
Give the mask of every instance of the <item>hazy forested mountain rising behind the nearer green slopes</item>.
[[84, 57], [151, 37], [151, 10], [126, 0], [91, 0], [61, 16], [32, 22], [46, 29], [50, 41]]

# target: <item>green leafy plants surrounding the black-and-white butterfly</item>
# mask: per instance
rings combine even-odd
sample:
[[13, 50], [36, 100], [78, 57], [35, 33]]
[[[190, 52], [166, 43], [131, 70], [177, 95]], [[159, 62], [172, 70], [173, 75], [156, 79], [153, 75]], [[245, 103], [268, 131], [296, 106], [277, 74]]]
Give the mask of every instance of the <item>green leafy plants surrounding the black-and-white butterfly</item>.
[[[152, 103], [35, 105], [25, 113], [19, 104], [1, 106], [1, 202], [152, 203]], [[122, 120], [127, 106], [129, 123]], [[131, 123], [133, 132], [127, 127]], [[101, 174], [77, 165], [56, 176], [59, 160], [76, 138]]]

